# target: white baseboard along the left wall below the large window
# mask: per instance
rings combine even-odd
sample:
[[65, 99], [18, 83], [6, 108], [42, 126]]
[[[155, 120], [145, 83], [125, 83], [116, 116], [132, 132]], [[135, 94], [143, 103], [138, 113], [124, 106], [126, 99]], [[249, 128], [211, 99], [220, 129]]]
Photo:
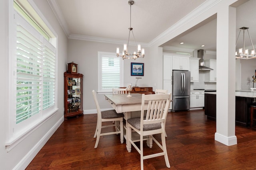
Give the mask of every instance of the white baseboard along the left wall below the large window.
[[54, 132], [60, 127], [61, 123], [64, 121], [64, 115], [55, 123], [55, 125], [36, 143], [36, 145], [20, 160], [20, 162], [13, 168], [13, 170], [24, 170], [34, 159], [36, 154], [42, 149]]

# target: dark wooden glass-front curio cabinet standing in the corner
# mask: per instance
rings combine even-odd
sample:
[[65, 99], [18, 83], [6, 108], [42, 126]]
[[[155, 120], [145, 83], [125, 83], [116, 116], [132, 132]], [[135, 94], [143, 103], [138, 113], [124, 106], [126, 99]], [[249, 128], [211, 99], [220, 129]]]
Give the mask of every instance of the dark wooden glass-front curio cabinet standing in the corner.
[[83, 74], [64, 72], [64, 118], [83, 115]]

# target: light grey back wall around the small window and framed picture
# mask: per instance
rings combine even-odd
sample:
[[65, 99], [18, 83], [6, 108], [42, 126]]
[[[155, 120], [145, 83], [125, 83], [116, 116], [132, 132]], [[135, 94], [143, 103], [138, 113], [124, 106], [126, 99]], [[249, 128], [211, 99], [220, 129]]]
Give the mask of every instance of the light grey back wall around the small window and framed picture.
[[[94, 41], [84, 41], [77, 39], [68, 39], [68, 63], [74, 62], [78, 64], [78, 73], [84, 74], [83, 78], [83, 109], [84, 113], [96, 113], [96, 106], [92, 98], [92, 90], [98, 88], [98, 51], [116, 53], [116, 47], [120, 45], [112, 43], [100, 43]], [[129, 46], [132, 50], [132, 46]], [[138, 58], [124, 60], [124, 87], [128, 82], [135, 85], [136, 76], [131, 76], [131, 63], [144, 63], [144, 76], [138, 80], [138, 86], [153, 87], [155, 90], [158, 87], [158, 81], [154, 78], [154, 72], [157, 69], [157, 59], [152, 57], [150, 49], [144, 47], [144, 59]], [[160, 66], [162, 69], [162, 65]], [[161, 70], [162, 71], [162, 70]], [[155, 86], [156, 85], [156, 86]], [[162, 88], [162, 87], [161, 87]], [[101, 109], [111, 108], [109, 103], [105, 100], [104, 95], [98, 96]]]

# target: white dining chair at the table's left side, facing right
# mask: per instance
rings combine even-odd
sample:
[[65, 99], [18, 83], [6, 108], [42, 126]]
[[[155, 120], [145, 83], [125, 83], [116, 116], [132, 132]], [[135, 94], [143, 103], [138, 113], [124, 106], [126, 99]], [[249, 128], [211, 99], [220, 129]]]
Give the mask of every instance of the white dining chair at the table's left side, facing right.
[[[116, 113], [116, 111], [114, 109], [113, 110], [100, 111], [100, 105], [99, 105], [97, 97], [96, 97], [96, 92], [94, 90], [92, 90], [92, 94], [93, 94], [93, 98], [94, 98], [94, 102], [96, 104], [96, 109], [97, 109], [97, 114], [98, 114], [96, 131], [94, 133], [94, 138], [96, 138], [96, 137], [97, 138], [96, 138], [96, 143], [95, 143], [94, 148], [98, 147], [100, 136], [104, 136], [104, 135], [112, 135], [112, 134], [119, 134], [120, 133], [120, 141], [121, 141], [121, 143], [124, 143], [124, 125], [123, 125], [124, 114], [123, 113]], [[116, 123], [102, 126], [102, 122], [108, 122], [108, 121], [111, 121], [111, 122], [119, 121], [119, 127]], [[101, 133], [102, 128], [112, 127], [112, 126], [116, 127], [116, 131]]]

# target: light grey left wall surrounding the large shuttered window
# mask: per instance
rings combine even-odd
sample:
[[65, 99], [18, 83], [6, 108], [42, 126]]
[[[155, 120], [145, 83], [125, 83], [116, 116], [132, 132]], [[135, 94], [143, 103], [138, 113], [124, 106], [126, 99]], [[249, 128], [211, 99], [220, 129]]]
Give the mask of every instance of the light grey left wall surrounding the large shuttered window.
[[[0, 169], [25, 169], [31, 162], [37, 152], [48, 141], [50, 136], [54, 133], [59, 124], [64, 121], [63, 107], [64, 107], [64, 88], [63, 88], [63, 72], [66, 70], [65, 64], [67, 63], [67, 38], [64, 34], [58, 20], [53, 14], [48, 2], [46, 0], [33, 0], [34, 4], [38, 6], [38, 9], [42, 12], [46, 20], [50, 23], [54, 31], [58, 34], [58, 108], [57, 113], [51, 117], [48, 121], [42, 123], [42, 125], [28, 135], [22, 142], [18, 143], [9, 152], [6, 151], [6, 132], [8, 131], [8, 90], [10, 87], [8, 74], [6, 71], [9, 69], [9, 54], [8, 54], [8, 9], [12, 9], [9, 6], [10, 0], [0, 1], [0, 49], [2, 52], [0, 70], [2, 71], [2, 78], [0, 83], [0, 89], [2, 89], [2, 98], [0, 99], [1, 107], [1, 119], [0, 119]], [[11, 4], [11, 3], [10, 3]], [[9, 7], [8, 7], [9, 6]], [[13, 34], [10, 33], [10, 36]], [[15, 106], [14, 106], [15, 107]], [[55, 129], [52, 129], [55, 128]]]

